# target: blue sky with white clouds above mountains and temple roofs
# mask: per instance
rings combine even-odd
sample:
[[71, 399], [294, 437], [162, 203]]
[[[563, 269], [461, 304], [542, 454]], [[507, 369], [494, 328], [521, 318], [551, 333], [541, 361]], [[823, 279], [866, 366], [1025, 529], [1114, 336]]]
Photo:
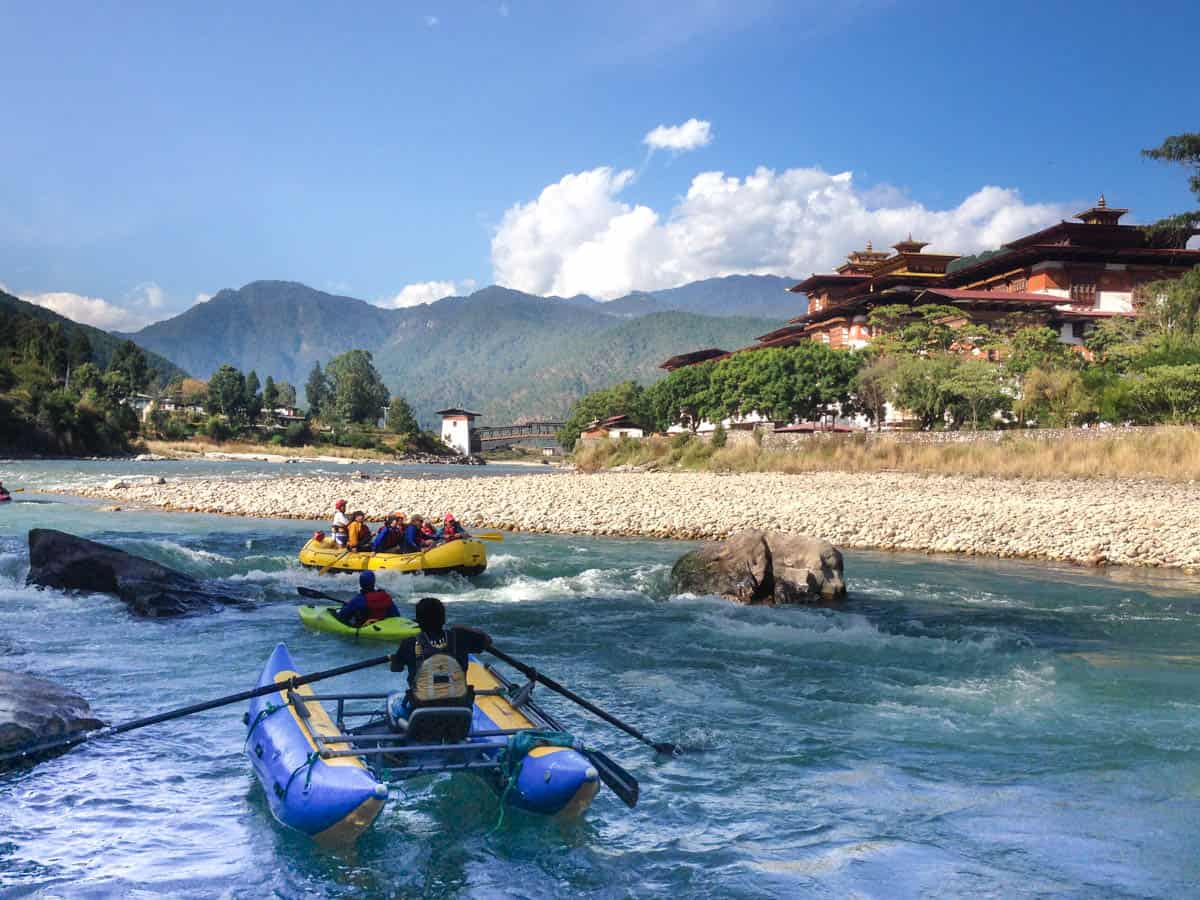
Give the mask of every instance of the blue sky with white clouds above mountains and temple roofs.
[[1139, 150], [1200, 128], [1198, 32], [1187, 4], [6, 2], [0, 283], [132, 328], [256, 278], [608, 298], [908, 230], [974, 251], [1099, 191], [1150, 221], [1193, 203]]

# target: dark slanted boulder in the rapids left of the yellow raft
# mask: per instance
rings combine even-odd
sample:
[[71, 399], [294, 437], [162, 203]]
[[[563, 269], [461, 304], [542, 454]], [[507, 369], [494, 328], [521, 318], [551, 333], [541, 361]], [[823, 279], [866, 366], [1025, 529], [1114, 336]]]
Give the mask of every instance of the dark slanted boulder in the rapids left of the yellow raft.
[[29, 533], [26, 582], [116, 594], [139, 616], [185, 616], [242, 602], [154, 560], [50, 528]]

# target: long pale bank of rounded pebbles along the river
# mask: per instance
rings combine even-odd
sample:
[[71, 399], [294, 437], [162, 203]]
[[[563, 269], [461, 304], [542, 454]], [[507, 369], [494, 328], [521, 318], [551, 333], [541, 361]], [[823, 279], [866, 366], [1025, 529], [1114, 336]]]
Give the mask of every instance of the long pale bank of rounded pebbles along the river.
[[905, 473], [608, 473], [510, 478], [208, 479], [72, 488], [121, 503], [326, 518], [346, 498], [378, 520], [454, 511], [473, 528], [716, 539], [748, 528], [838, 547], [1200, 570], [1200, 484]]

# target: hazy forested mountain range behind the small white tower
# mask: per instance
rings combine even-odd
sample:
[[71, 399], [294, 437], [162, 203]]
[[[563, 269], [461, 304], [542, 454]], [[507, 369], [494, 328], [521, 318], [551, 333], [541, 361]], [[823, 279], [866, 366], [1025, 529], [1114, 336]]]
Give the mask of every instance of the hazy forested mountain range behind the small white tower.
[[[662, 374], [662, 360], [697, 347], [743, 347], [803, 311], [803, 300], [780, 287], [792, 282], [745, 277], [750, 281], [716, 278], [607, 304], [492, 286], [400, 310], [295, 282], [258, 281], [222, 290], [134, 338], [198, 377], [229, 362], [260, 378], [292, 382], [301, 398], [314, 362], [361, 347], [422, 422], [432, 422], [433, 410], [446, 404], [474, 406], [490, 421], [504, 422], [562, 415], [589, 390], [626, 378], [652, 380]], [[725, 314], [672, 307], [716, 306], [718, 283], [730, 289]], [[728, 314], [742, 306], [761, 308], [776, 289], [785, 299], [779, 316]]]

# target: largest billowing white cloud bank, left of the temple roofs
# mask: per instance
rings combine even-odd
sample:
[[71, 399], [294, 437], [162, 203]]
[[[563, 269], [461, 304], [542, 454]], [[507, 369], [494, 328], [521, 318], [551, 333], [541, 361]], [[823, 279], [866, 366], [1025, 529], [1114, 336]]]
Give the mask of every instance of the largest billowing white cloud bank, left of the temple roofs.
[[974, 253], [1069, 215], [985, 186], [935, 210], [894, 191], [862, 190], [848, 172], [776, 172], [738, 178], [704, 172], [673, 208], [623, 199], [629, 169], [563, 176], [503, 216], [492, 238], [494, 281], [535, 294], [612, 299], [733, 274], [806, 276], [852, 250], [907, 236], [932, 251]]

